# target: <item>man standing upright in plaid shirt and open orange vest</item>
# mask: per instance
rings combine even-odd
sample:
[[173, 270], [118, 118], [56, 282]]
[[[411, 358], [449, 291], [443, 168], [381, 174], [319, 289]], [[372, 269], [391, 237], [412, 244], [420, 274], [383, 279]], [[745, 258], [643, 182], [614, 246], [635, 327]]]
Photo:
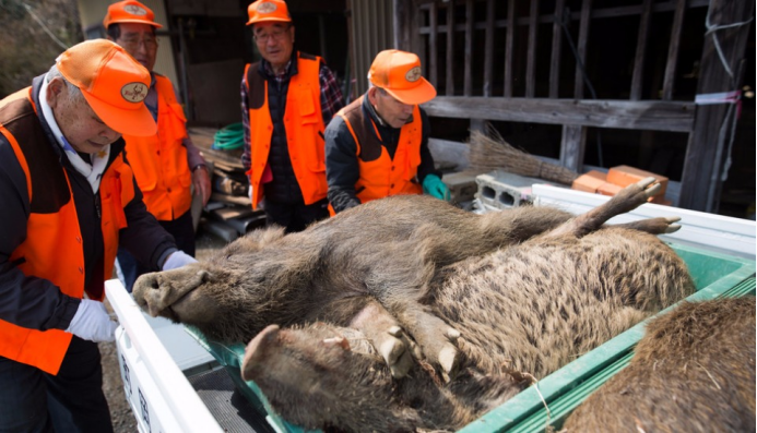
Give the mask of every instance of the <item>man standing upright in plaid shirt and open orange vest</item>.
[[294, 49], [295, 27], [282, 0], [247, 9], [262, 56], [241, 80], [245, 152], [252, 207], [263, 197], [267, 221], [287, 232], [329, 216], [323, 130], [344, 105], [321, 58]]

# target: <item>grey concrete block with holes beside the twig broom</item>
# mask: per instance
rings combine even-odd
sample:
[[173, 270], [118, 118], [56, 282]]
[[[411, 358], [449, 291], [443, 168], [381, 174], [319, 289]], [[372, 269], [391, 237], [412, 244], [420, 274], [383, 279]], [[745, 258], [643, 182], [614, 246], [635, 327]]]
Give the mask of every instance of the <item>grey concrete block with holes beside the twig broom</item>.
[[478, 184], [476, 197], [483, 204], [499, 209], [508, 209], [533, 203], [532, 184], [551, 182], [505, 171], [493, 171], [477, 176], [476, 183]]

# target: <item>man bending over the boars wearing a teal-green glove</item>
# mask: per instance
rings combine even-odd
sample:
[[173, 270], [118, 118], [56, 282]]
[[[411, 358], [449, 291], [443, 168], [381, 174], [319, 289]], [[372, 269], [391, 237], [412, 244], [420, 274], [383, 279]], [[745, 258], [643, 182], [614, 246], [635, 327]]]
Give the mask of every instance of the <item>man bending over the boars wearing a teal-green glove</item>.
[[368, 81], [368, 92], [336, 113], [326, 130], [331, 212], [398, 194], [449, 201], [428, 149], [428, 117], [418, 107], [436, 97], [418, 57], [381, 51]]

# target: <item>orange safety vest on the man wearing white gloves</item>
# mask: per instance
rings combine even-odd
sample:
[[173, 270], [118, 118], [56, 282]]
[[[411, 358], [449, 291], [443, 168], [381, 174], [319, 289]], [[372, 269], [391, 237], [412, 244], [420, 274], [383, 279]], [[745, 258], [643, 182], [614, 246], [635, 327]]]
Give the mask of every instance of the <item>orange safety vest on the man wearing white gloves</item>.
[[[68, 173], [51, 151], [37, 120], [31, 87], [0, 101], [0, 133], [13, 147], [26, 175], [32, 204], [26, 239], [13, 251], [10, 262], [19, 263], [17, 267], [24, 275], [48, 279], [61, 292], [81, 299], [84, 292], [84, 246], [73, 192]], [[35, 192], [33, 185], [42, 188]], [[46, 195], [49, 197], [49, 191], [56, 188], [62, 188], [63, 194], [68, 192], [68, 202], [55, 213], [35, 213], [40, 206], [34, 205], [34, 201], [42, 201]], [[111, 275], [118, 231], [127, 226], [123, 206], [134, 197], [133, 175], [123, 154], [103, 173], [99, 194], [105, 242], [104, 275]], [[42, 207], [49, 208], [50, 205], [55, 203]], [[97, 300], [102, 299], [100, 294]], [[60, 329], [42, 332], [0, 320], [0, 356], [57, 374], [71, 337], [72, 334]]]

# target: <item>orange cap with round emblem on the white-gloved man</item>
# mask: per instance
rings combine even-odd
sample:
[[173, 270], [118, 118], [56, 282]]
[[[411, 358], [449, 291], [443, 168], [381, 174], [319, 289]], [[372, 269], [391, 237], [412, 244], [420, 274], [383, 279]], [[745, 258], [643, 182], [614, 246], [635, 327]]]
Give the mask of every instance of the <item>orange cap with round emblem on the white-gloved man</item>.
[[144, 105], [150, 72], [123, 48], [106, 39], [86, 40], [63, 51], [56, 65], [114, 131], [137, 136], [157, 132]]

